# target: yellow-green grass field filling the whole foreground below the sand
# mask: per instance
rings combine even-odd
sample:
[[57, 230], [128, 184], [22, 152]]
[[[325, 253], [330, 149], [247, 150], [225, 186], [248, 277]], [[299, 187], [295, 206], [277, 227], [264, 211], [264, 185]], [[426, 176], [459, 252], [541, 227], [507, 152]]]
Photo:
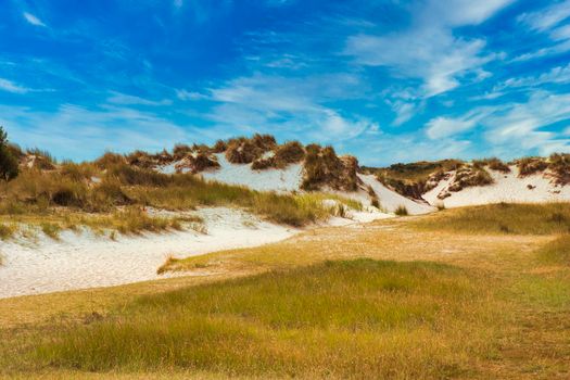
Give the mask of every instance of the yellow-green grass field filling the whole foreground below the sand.
[[197, 276], [0, 300], [0, 375], [566, 379], [569, 239], [548, 215], [568, 208], [525, 207], [316, 229], [165, 268]]

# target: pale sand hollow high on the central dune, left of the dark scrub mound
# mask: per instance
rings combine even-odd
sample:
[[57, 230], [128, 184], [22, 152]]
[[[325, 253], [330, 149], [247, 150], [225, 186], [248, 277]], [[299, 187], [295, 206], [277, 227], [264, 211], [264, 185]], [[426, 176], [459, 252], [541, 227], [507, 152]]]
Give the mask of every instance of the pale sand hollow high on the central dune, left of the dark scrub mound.
[[232, 164], [224, 153], [216, 154], [219, 168], [202, 173], [204, 179], [246, 186], [258, 191], [299, 191], [303, 179], [303, 165], [291, 164], [284, 169], [252, 170], [251, 164]]

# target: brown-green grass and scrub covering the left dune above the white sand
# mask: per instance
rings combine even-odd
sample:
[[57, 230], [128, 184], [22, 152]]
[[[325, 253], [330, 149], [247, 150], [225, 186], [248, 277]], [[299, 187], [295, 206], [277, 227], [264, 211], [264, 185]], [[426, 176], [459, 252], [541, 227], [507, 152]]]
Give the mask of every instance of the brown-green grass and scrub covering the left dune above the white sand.
[[[250, 140], [230, 140], [227, 145], [224, 143], [224, 147], [229, 147], [224, 150], [235, 152], [238, 141], [243, 143]], [[256, 140], [253, 138], [251, 141]], [[79, 226], [89, 227], [98, 233], [109, 230], [139, 233], [200, 224], [200, 219], [191, 215], [149, 215], [144, 212], [147, 207], [167, 211], [192, 211], [201, 206], [241, 207], [269, 221], [294, 227], [324, 220], [339, 212], [338, 207], [324, 205], [325, 199], [332, 198], [340, 204], [360, 207], [358, 202], [339, 195], [261, 192], [205, 181], [191, 172], [159, 173], [149, 160], [154, 163], [153, 160], [163, 156], [161, 154], [105, 153], [93, 162], [58, 163], [48, 152], [37, 149], [23, 151], [8, 144], [5, 134], [1, 147], [0, 156], [5, 157], [2, 160], [9, 164], [2, 174], [7, 180], [0, 181], [0, 239], [9, 239], [16, 232], [30, 236], [37, 230], [56, 238], [60, 230], [77, 229]], [[177, 145], [168, 160], [200, 157], [195, 151], [200, 149], [204, 148]], [[304, 148], [295, 143], [275, 145], [275, 149], [277, 153], [273, 165], [276, 167], [302, 160], [305, 155]], [[313, 155], [313, 162], [320, 162], [316, 155]], [[318, 166], [318, 163], [313, 165]], [[318, 177], [317, 173], [315, 176], [318, 181], [325, 175]]]

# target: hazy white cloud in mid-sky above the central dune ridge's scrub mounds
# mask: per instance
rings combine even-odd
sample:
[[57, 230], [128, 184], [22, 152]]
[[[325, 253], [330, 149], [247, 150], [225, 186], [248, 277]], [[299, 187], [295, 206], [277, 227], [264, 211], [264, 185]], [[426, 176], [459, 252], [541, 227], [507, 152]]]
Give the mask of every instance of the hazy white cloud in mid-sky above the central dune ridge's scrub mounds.
[[325, 142], [352, 139], [373, 123], [346, 117], [322, 105], [328, 100], [359, 94], [359, 79], [350, 75], [287, 78], [256, 74], [210, 90], [214, 106], [210, 118], [236, 132], [270, 131]]

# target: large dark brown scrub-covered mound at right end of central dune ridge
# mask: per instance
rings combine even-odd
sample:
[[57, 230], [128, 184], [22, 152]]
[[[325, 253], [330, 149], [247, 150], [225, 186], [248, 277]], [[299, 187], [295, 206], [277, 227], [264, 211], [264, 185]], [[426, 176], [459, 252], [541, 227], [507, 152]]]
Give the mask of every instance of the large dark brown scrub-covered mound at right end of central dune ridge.
[[329, 187], [334, 190], [355, 191], [358, 188], [358, 161], [353, 156], [339, 157], [332, 147], [307, 145], [304, 168], [301, 185], [304, 190]]

